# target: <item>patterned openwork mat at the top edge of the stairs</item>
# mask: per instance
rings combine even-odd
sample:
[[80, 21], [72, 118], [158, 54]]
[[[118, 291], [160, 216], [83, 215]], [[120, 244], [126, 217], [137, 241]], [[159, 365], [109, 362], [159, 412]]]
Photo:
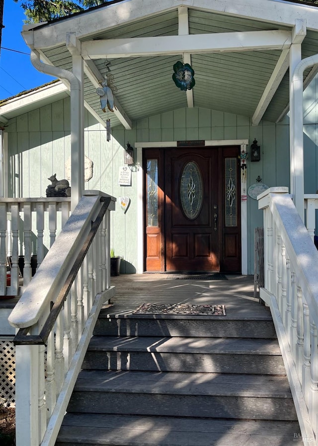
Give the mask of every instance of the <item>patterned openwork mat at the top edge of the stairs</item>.
[[188, 303], [143, 303], [134, 314], [190, 314], [195, 316], [225, 316], [225, 305], [190, 305]]

